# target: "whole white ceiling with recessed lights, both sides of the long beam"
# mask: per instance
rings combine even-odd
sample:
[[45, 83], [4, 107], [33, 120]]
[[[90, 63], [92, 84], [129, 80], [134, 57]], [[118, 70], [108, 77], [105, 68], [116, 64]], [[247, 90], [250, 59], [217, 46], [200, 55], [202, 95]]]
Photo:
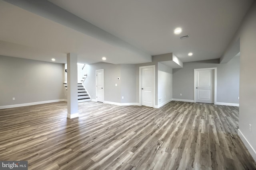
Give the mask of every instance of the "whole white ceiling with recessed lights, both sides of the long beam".
[[[15, 1], [15, 0], [11, 0]], [[26, 0], [20, 0], [26, 1]], [[0, 55], [80, 63], [146, 63], [174, 53], [182, 62], [220, 58], [253, 0], [48, 0], [134, 47], [134, 51], [0, 0]], [[182, 28], [174, 35], [176, 27]], [[189, 35], [180, 40], [180, 36]], [[139, 53], [136, 49], [144, 51]], [[194, 55], [188, 57], [188, 53]], [[148, 54], [148, 55], [147, 55]]]

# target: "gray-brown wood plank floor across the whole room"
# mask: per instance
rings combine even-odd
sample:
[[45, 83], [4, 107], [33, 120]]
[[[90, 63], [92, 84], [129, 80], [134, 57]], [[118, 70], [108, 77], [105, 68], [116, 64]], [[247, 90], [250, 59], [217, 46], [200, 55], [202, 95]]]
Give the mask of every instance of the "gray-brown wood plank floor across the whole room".
[[237, 135], [238, 107], [170, 102], [154, 109], [97, 102], [0, 109], [0, 160], [29, 170], [255, 170]]

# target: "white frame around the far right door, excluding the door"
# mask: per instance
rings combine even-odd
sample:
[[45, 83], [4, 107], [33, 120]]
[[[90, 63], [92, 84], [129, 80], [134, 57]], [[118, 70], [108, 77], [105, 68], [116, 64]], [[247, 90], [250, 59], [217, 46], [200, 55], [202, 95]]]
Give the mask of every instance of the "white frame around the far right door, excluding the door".
[[214, 104], [217, 101], [217, 67], [212, 68], [195, 68], [194, 69], [194, 103], [196, 103], [196, 71], [198, 70], [214, 70]]

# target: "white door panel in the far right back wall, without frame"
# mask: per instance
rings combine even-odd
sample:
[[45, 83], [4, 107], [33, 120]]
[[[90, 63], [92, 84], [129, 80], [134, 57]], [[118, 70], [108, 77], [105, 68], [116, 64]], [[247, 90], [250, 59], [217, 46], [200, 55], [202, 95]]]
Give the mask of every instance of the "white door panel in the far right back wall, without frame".
[[196, 70], [196, 102], [214, 103], [214, 70]]

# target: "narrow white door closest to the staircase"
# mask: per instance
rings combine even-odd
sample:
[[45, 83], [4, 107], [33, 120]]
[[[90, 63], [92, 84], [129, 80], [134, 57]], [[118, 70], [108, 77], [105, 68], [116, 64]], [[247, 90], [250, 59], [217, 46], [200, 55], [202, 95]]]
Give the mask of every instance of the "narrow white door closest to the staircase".
[[104, 102], [104, 70], [96, 70], [96, 101]]

